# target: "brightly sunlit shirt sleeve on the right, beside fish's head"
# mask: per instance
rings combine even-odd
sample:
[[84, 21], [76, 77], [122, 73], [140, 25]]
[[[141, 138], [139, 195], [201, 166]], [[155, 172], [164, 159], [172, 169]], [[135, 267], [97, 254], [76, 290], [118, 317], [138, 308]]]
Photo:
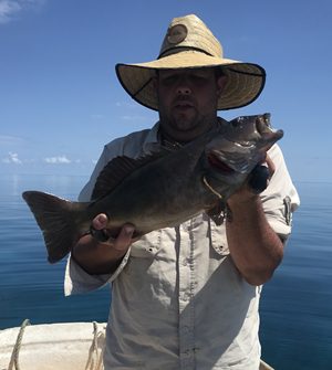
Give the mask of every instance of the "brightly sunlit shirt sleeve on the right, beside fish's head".
[[261, 193], [261, 200], [269, 224], [282, 240], [287, 240], [291, 233], [292, 213], [300, 205], [300, 199], [280, 147], [274, 145], [268, 155], [276, 166], [276, 171], [268, 188]]

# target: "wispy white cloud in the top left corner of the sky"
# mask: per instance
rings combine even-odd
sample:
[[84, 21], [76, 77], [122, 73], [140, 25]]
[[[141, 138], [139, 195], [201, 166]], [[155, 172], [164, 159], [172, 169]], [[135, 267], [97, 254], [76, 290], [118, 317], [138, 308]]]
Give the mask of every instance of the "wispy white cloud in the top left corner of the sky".
[[0, 24], [13, 20], [23, 10], [39, 9], [45, 0], [0, 0]]

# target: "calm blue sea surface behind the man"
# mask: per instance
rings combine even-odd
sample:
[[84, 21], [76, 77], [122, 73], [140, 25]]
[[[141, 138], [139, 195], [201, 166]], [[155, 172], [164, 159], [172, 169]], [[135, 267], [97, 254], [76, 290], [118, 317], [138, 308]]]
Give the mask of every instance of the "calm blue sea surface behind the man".
[[[46, 263], [23, 190], [75, 199], [84, 177], [0, 176], [0, 329], [106, 321], [107, 289], [63, 297], [64, 263]], [[332, 183], [297, 183], [301, 208], [282, 266], [261, 299], [263, 358], [277, 370], [332, 369]]]

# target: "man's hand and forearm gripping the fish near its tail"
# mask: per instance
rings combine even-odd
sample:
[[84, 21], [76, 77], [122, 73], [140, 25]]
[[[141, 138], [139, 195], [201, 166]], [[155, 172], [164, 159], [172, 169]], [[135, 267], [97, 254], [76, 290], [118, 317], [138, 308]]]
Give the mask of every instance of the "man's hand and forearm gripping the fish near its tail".
[[[131, 244], [138, 240], [132, 237], [135, 231], [132, 224], [124, 224], [116, 239], [107, 237], [107, 223], [106, 214], [96, 215], [92, 220], [92, 234], [83, 235], [72, 250], [75, 262], [91, 275], [112, 274]], [[104, 235], [104, 241], [96, 237], [98, 234]]]

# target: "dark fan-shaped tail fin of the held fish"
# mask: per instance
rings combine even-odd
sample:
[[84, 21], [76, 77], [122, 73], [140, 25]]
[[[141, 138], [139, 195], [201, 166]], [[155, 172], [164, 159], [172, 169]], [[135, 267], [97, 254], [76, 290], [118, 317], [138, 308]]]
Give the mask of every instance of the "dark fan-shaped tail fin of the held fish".
[[71, 202], [40, 191], [25, 191], [22, 197], [43, 232], [49, 262], [59, 262], [82, 234], [85, 203]]

